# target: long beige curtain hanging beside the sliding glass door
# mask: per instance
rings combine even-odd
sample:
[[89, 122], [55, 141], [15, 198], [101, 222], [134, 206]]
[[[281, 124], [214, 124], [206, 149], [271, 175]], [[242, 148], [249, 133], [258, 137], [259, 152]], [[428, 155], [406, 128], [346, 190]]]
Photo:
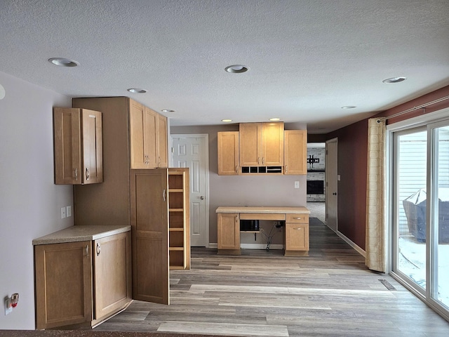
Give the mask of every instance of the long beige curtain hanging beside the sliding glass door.
[[384, 220], [385, 121], [368, 120], [368, 181], [366, 188], [366, 265], [385, 272]]

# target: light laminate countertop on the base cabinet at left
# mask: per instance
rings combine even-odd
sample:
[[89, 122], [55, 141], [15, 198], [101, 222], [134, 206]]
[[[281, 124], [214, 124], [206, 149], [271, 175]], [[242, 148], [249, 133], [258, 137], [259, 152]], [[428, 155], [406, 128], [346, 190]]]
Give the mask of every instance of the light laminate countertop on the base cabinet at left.
[[129, 232], [131, 226], [72, 226], [39, 237], [33, 240], [33, 245], [38, 244], [61, 244], [64, 242], [80, 242], [101, 239], [110, 235]]

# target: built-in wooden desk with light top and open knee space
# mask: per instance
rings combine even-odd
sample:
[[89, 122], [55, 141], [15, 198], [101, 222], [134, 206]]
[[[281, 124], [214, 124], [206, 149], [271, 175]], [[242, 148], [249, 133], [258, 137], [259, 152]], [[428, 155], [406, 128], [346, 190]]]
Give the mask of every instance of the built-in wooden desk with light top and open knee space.
[[218, 207], [218, 253], [240, 254], [240, 220], [285, 221], [285, 256], [309, 255], [309, 213], [305, 207]]

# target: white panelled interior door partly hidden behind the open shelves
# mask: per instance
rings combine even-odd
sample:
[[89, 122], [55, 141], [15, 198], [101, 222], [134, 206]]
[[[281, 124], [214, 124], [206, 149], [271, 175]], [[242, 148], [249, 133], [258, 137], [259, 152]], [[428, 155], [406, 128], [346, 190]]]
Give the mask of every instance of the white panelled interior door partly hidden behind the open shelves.
[[171, 135], [173, 167], [190, 176], [190, 245], [209, 246], [208, 135]]

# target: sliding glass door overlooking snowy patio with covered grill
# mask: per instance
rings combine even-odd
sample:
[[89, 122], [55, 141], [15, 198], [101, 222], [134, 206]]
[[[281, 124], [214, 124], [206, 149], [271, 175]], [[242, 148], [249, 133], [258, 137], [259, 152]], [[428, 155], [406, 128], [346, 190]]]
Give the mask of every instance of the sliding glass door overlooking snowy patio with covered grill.
[[391, 274], [449, 317], [449, 120], [392, 135]]

